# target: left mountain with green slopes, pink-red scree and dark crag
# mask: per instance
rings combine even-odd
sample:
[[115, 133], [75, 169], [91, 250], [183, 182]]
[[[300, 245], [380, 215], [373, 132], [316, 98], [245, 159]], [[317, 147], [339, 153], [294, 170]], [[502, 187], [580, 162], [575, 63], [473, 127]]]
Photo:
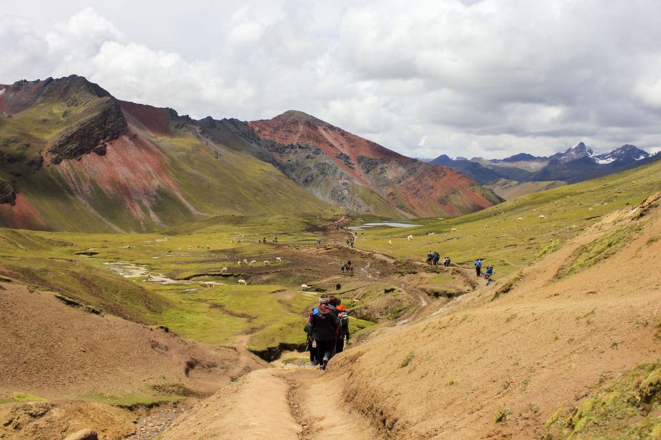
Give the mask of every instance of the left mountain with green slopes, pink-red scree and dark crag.
[[120, 102], [85, 78], [0, 88], [0, 225], [148, 231], [218, 214], [334, 209], [273, 166], [209, 144], [190, 118]]

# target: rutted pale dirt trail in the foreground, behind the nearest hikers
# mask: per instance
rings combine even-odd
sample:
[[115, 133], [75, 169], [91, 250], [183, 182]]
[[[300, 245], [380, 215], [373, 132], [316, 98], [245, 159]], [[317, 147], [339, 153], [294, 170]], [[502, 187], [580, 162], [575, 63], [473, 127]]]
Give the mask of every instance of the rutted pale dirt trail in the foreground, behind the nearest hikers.
[[379, 439], [325, 374], [297, 366], [253, 371], [180, 417], [162, 439]]

